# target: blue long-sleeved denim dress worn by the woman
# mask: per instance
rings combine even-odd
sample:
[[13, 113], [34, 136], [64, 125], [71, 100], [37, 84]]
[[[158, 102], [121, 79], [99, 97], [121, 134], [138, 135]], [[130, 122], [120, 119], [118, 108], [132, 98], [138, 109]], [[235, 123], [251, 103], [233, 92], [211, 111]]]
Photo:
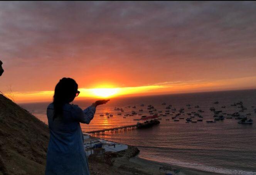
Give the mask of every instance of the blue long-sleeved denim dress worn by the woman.
[[89, 124], [96, 109], [84, 111], [77, 105], [65, 104], [62, 117], [53, 121], [54, 105], [47, 107], [50, 141], [47, 149], [45, 175], [89, 175], [80, 122]]

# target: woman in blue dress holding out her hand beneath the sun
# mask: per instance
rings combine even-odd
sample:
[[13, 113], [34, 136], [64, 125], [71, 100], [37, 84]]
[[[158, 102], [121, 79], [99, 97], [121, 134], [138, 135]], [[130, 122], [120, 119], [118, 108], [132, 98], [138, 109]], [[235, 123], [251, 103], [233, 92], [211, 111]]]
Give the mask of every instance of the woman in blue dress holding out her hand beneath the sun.
[[53, 102], [47, 107], [50, 141], [45, 175], [89, 175], [80, 122], [89, 124], [96, 106], [109, 100], [96, 101], [82, 110], [69, 104], [79, 95], [77, 89], [74, 79], [62, 78], [55, 87]]

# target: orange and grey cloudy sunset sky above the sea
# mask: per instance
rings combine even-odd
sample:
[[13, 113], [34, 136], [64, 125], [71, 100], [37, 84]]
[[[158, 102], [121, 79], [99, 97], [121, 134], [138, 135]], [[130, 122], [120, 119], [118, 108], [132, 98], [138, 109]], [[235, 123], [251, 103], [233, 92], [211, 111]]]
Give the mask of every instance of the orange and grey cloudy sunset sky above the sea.
[[51, 101], [256, 88], [255, 2], [0, 2], [0, 90]]

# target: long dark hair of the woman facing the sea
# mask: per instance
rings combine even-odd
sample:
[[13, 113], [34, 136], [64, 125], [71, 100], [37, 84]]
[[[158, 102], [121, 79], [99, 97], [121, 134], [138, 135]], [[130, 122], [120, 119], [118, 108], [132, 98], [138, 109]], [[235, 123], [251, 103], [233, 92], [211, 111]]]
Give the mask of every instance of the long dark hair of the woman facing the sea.
[[78, 85], [76, 81], [72, 78], [62, 78], [59, 83], [57, 83], [54, 96], [54, 115], [53, 120], [58, 116], [62, 115], [63, 105], [74, 100], [76, 97]]

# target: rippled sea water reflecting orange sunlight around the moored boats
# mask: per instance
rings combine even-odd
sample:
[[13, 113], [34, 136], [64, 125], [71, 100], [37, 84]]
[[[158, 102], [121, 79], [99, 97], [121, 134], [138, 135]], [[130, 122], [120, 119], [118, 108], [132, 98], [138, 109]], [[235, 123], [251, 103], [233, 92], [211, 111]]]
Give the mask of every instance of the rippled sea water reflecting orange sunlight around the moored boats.
[[[214, 104], [216, 101], [219, 104]], [[239, 101], [242, 101], [244, 108], [247, 108], [244, 112], [239, 112], [241, 105], [231, 106]], [[92, 102], [91, 99], [77, 100], [74, 101], [74, 104], [84, 109]], [[166, 105], [162, 105], [163, 102]], [[20, 106], [47, 124], [46, 108], [48, 104], [27, 103], [20, 104]], [[141, 104], [145, 106], [142, 107]], [[187, 104], [191, 105], [191, 109]], [[148, 160], [207, 172], [256, 175], [256, 113], [254, 111], [256, 109], [256, 90], [113, 98], [108, 104], [97, 107], [91, 123], [89, 125], [81, 124], [82, 130], [88, 132], [136, 124], [137, 121], [133, 119], [139, 119], [141, 116], [124, 115], [135, 111], [142, 116], [149, 116], [148, 105], [157, 109], [153, 113], [162, 111], [158, 114], [164, 114], [165, 111], [170, 110], [170, 114], [160, 116], [162, 118], [160, 124], [148, 129], [109, 132], [97, 137], [134, 145], [140, 149], [138, 156]], [[171, 109], [165, 109], [168, 105], [172, 105]], [[196, 105], [199, 108], [195, 108]], [[132, 108], [133, 106], [136, 108]], [[226, 107], [222, 108], [222, 106]], [[123, 108], [124, 112], [114, 110], [115, 107]], [[235, 117], [226, 119], [227, 114], [223, 114], [225, 117], [223, 121], [207, 123], [207, 120], [214, 120], [214, 113], [209, 110], [211, 107], [215, 107], [216, 111], [222, 111], [220, 114], [239, 112], [240, 115], [246, 115], [251, 113], [248, 117], [254, 120], [254, 124], [238, 124]], [[177, 110], [172, 111], [173, 108]], [[197, 112], [203, 117], [200, 118], [203, 121], [186, 123], [185, 119], [180, 119], [175, 122], [172, 117], [179, 113], [180, 108], [184, 108], [184, 113], [181, 113], [180, 117], [186, 119], [190, 117], [187, 113]], [[140, 109], [143, 111], [139, 112]], [[200, 109], [204, 112], [198, 112]], [[106, 112], [113, 114], [113, 117], [108, 118]], [[117, 115], [118, 113], [122, 115]], [[101, 114], [104, 116], [100, 116]], [[192, 120], [196, 121], [197, 119], [199, 118], [195, 117]]]

